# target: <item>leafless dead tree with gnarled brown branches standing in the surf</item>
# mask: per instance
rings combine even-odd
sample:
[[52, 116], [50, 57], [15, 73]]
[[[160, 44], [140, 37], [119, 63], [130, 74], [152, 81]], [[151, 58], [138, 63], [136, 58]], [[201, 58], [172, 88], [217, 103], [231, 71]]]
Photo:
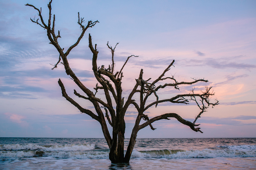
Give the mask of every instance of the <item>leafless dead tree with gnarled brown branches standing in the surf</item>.
[[[72, 71], [72, 69], [69, 66], [67, 56], [70, 53], [70, 51], [78, 45], [80, 40], [83, 38], [85, 31], [88, 28], [91, 28], [95, 26], [98, 21], [88, 21], [84, 25], [84, 18], [80, 18], [78, 13], [78, 24], [80, 28], [82, 29], [81, 35], [79, 36], [78, 40], [71, 45], [66, 52], [64, 52], [64, 48], [62, 48], [58, 43], [58, 38], [61, 38], [60, 32], [58, 31], [58, 34], [55, 34], [55, 15], [51, 15], [51, 3], [52, 0], [50, 0], [48, 4], [49, 8], [49, 18], [48, 23], [44, 22], [44, 19], [42, 17], [42, 10], [36, 8], [33, 5], [26, 4], [26, 6], [31, 6], [35, 10], [38, 11], [39, 18], [37, 20], [30, 19], [33, 23], [38, 24], [43, 29], [47, 31], [47, 37], [50, 40], [50, 43], [55, 46], [55, 48], [59, 52], [59, 60], [54, 65], [54, 68], [57, 67], [57, 65], [62, 60], [62, 63], [65, 67], [67, 75], [69, 75], [73, 81], [77, 84], [77, 86], [83, 91], [84, 94], [77, 93], [76, 90], [74, 90], [74, 94], [80, 98], [83, 98], [89, 102], [91, 102], [95, 108], [95, 111], [92, 112], [91, 110], [88, 110], [86, 108], [81, 107], [75, 100], [69, 97], [69, 95], [66, 93], [65, 87], [61, 80], [59, 79], [58, 83], [61, 87], [62, 96], [66, 98], [71, 104], [73, 104], [79, 111], [82, 113], [85, 113], [89, 115], [92, 119], [95, 119], [98, 121], [101, 125], [102, 132], [104, 134], [104, 137], [107, 141], [108, 147], [110, 149], [109, 151], [109, 159], [112, 163], [128, 163], [131, 157], [132, 150], [134, 148], [137, 133], [140, 129], [145, 128], [147, 126], [150, 126], [152, 130], [153, 128], [152, 123], [155, 121], [159, 121], [162, 119], [169, 120], [170, 118], [177, 119], [180, 123], [187, 125], [192, 130], [196, 132], [201, 132], [200, 128], [198, 127], [199, 124], [195, 124], [197, 119], [200, 118], [201, 114], [206, 111], [208, 107], [213, 107], [215, 105], [218, 105], [218, 101], [215, 100], [215, 103], [210, 102], [210, 97], [214, 95], [214, 93], [211, 91], [212, 87], [206, 87], [205, 91], [202, 91], [201, 93], [194, 93], [194, 90], [191, 90], [188, 94], [178, 94], [174, 97], [168, 98], [168, 99], [159, 99], [157, 92], [163, 88], [168, 87], [174, 87], [175, 89], [179, 90], [179, 85], [191, 85], [195, 84], [197, 82], [208, 82], [208, 80], [204, 79], [194, 79], [191, 82], [178, 82], [173, 76], [172, 77], [165, 77], [165, 73], [170, 70], [170, 67], [173, 66], [174, 60], [168, 65], [168, 67], [163, 71], [163, 73], [154, 81], [150, 79], [144, 80], [143, 79], [143, 69], [140, 70], [139, 77], [136, 80], [136, 84], [131, 90], [129, 96], [126, 96], [124, 98], [122, 96], [122, 78], [123, 76], [123, 68], [126, 65], [127, 61], [130, 57], [138, 57], [135, 55], [131, 55], [127, 58], [125, 63], [123, 64], [120, 71], [114, 70], [114, 51], [116, 46], [113, 48], [112, 46], [109, 46], [107, 43], [108, 48], [112, 52], [112, 61], [108, 68], [105, 68], [104, 65], [99, 67], [97, 65], [97, 57], [98, 57], [98, 50], [97, 50], [97, 44], [93, 46], [92, 43], [92, 37], [89, 34], [89, 48], [93, 54], [92, 56], [92, 70], [94, 72], [94, 76], [98, 83], [96, 84], [96, 87], [94, 88], [96, 92], [98, 90], [103, 90], [106, 101], [104, 102], [100, 98], [96, 97], [96, 92], [93, 93], [91, 90], [89, 90], [75, 75], [75, 73]], [[118, 43], [117, 43], [118, 44]], [[116, 45], [117, 45], [116, 44]], [[157, 85], [161, 82], [165, 82], [163, 85]], [[138, 94], [139, 101], [136, 102], [134, 100], [135, 94]], [[154, 95], [156, 100], [152, 103], [147, 102], [147, 99]], [[163, 115], [159, 115], [153, 118], [149, 118], [147, 115], [144, 114], [147, 109], [149, 109], [152, 106], [157, 107], [158, 104], [164, 103], [164, 102], [170, 102], [170, 103], [181, 103], [181, 104], [189, 104], [190, 101], [195, 101], [197, 106], [200, 108], [201, 112], [198, 114], [198, 116], [195, 118], [195, 121], [192, 123], [190, 121], [184, 120], [176, 113], [166, 113]], [[129, 145], [126, 149], [126, 154], [124, 155], [124, 134], [125, 134], [125, 113], [130, 107], [130, 105], [133, 105], [137, 112], [137, 118], [134, 124], [134, 127], [132, 129], [132, 134], [130, 137]], [[104, 111], [102, 110], [104, 108]], [[104, 113], [105, 112], [105, 115]], [[142, 119], [145, 121], [143, 122]], [[142, 121], [142, 123], [141, 123]], [[107, 123], [112, 127], [112, 135], [109, 132], [109, 129], [107, 127]]]

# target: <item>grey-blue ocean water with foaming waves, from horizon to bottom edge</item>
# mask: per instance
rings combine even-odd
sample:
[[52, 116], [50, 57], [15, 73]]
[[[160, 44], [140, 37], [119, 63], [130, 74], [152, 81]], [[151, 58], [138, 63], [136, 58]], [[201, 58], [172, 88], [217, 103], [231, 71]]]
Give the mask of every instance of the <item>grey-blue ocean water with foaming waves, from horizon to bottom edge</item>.
[[0, 170], [256, 169], [256, 138], [138, 138], [129, 164], [108, 153], [102, 138], [0, 137]]

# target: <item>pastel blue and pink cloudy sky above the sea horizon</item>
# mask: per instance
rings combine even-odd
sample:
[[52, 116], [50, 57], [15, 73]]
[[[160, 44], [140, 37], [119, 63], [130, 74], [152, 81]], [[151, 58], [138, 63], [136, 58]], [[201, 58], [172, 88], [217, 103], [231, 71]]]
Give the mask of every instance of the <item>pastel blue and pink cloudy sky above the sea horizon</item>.
[[[79, 91], [59, 64], [58, 52], [49, 44], [46, 30], [32, 23], [40, 9], [47, 21], [48, 0], [0, 0], [0, 137], [81, 137], [102, 138], [100, 124], [82, 114], [62, 97], [61, 78], [67, 93], [85, 108], [88, 101], [72, 95]], [[81, 34], [78, 15], [96, 21], [79, 45], [68, 56], [70, 66], [80, 80], [93, 91], [92, 53], [88, 34], [97, 43], [98, 65], [111, 64], [107, 42], [115, 46], [115, 69], [131, 57], [123, 70], [123, 97], [136, 83], [140, 69], [143, 78], [156, 79], [175, 59], [166, 76], [178, 82], [204, 78], [207, 83], [165, 88], [159, 99], [203, 90], [212, 86], [220, 104], [209, 108], [197, 120], [204, 133], [194, 132], [177, 120], [161, 120], [141, 129], [138, 138], [256, 137], [256, 1], [82, 1], [53, 0], [55, 30], [64, 51]], [[101, 92], [98, 97], [104, 99]], [[155, 100], [154, 98], [150, 100]], [[149, 118], [177, 113], [192, 121], [200, 112], [189, 105], [162, 104], [147, 111]], [[135, 109], [126, 113], [125, 137], [129, 138], [136, 119]]]

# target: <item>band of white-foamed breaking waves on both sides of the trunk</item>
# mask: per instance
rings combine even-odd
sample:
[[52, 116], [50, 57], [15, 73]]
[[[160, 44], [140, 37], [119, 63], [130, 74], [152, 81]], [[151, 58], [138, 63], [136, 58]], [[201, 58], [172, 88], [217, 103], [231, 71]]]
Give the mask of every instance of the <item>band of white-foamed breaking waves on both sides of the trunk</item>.
[[[94, 144], [5, 144], [0, 145], [0, 158], [53, 157], [53, 158], [108, 158], [109, 149]], [[134, 150], [132, 158], [214, 158], [214, 157], [256, 157], [256, 145], [217, 146], [203, 150]]]

